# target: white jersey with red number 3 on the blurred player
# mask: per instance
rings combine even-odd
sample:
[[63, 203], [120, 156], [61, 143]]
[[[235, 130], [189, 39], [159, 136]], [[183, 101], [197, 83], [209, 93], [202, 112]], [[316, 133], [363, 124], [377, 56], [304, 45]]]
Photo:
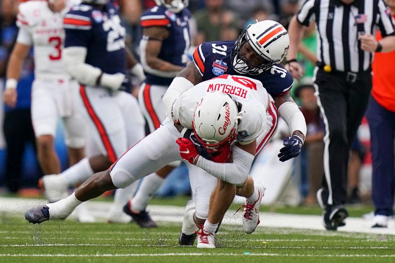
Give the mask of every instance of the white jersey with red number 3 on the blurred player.
[[66, 8], [59, 13], [52, 12], [47, 1], [30, 0], [19, 5], [17, 42], [34, 46], [37, 78], [68, 77], [62, 61], [63, 15], [79, 2], [67, 0]]

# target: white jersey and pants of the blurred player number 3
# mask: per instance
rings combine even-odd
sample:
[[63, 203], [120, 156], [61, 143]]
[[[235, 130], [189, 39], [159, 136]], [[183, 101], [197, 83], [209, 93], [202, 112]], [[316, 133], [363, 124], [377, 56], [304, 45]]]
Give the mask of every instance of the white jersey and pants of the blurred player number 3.
[[54, 136], [60, 116], [65, 124], [66, 144], [72, 148], [85, 145], [85, 124], [74, 112], [73, 96], [77, 95], [78, 83], [64, 71], [63, 15], [77, 3], [79, 0], [68, 0], [63, 12], [54, 13], [47, 1], [31, 0], [19, 5], [17, 16], [17, 42], [34, 47], [32, 121], [36, 137]]

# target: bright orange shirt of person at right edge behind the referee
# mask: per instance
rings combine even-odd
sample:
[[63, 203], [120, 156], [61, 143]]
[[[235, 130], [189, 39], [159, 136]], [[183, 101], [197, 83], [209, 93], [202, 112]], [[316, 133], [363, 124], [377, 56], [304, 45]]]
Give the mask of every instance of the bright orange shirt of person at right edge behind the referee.
[[[395, 18], [395, 15], [393, 15]], [[380, 32], [377, 40], [382, 39]], [[389, 53], [375, 53], [372, 63], [374, 99], [388, 111], [395, 112], [395, 51]]]

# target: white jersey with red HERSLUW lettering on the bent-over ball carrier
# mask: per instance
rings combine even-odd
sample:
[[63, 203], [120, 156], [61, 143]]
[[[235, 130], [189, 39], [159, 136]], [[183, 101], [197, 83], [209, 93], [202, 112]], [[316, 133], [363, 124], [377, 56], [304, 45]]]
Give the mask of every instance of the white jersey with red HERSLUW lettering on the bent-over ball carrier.
[[237, 75], [206, 80], [183, 92], [177, 101], [182, 126], [192, 129], [197, 104], [212, 91], [222, 91], [241, 103], [242, 119], [237, 126], [237, 141], [240, 144], [251, 143], [264, 131], [270, 95], [259, 80]]

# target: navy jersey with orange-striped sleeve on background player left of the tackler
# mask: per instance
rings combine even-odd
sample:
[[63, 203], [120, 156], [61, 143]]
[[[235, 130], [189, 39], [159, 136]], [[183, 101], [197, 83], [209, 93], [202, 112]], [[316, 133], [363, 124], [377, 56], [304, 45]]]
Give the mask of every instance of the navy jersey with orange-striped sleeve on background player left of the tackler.
[[[189, 19], [191, 12], [184, 8], [179, 13], [173, 13], [163, 6], [154, 6], [144, 12], [140, 18], [141, 26], [146, 27], [166, 27], [169, 37], [162, 41], [162, 47], [158, 58], [171, 64], [185, 67], [189, 62], [187, 52], [190, 48]], [[178, 72], [163, 72], [152, 69], [145, 62], [146, 46], [148, 38], [143, 37], [140, 42], [141, 64], [146, 74], [145, 82], [156, 85], [170, 85]]]

